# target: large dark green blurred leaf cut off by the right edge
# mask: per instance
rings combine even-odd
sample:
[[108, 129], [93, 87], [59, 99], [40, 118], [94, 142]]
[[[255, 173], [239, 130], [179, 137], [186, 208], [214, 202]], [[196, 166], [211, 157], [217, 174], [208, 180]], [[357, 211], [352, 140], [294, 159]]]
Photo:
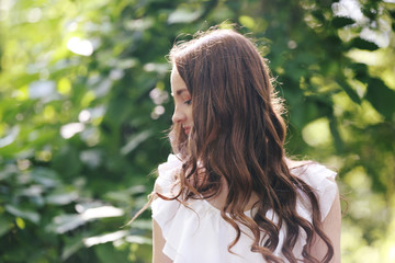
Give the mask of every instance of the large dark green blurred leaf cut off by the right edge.
[[365, 98], [385, 118], [393, 119], [395, 113], [395, 91], [386, 87], [381, 79], [372, 78], [369, 80]]

